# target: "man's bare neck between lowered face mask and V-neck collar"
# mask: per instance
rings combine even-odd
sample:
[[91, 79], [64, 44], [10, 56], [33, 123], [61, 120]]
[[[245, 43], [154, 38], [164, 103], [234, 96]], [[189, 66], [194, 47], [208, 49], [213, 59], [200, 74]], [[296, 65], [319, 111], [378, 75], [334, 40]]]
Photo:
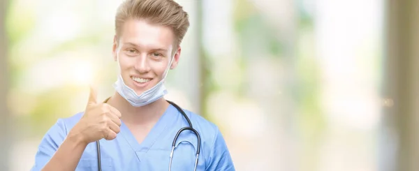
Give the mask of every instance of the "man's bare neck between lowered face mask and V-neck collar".
[[121, 120], [130, 125], [156, 123], [170, 105], [164, 98], [159, 98], [148, 105], [134, 107], [117, 92], [109, 98], [108, 104], [119, 110], [122, 115]]

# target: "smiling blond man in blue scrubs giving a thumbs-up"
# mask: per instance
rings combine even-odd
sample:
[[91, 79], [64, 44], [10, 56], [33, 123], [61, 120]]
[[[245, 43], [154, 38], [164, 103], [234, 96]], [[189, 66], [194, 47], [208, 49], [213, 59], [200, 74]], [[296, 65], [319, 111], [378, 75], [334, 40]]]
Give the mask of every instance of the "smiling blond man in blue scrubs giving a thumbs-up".
[[[115, 17], [115, 94], [103, 103], [91, 89], [84, 112], [47, 131], [32, 170], [193, 170], [198, 136], [183, 131], [171, 154], [177, 131], [189, 123], [163, 98], [164, 79], [177, 66], [188, 27], [188, 15], [175, 1], [124, 1]], [[200, 135], [196, 170], [235, 170], [219, 129], [184, 111]]]

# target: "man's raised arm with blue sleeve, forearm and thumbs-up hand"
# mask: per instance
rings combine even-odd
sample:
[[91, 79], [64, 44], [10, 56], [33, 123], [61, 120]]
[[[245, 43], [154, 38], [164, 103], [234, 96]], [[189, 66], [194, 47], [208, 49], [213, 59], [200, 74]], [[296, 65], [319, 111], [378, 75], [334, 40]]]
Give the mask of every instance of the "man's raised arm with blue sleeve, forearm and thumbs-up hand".
[[68, 135], [62, 120], [50, 128], [39, 145], [33, 171], [75, 170], [87, 144], [117, 137], [121, 113], [108, 104], [97, 103], [96, 96], [96, 90], [91, 89], [83, 117]]

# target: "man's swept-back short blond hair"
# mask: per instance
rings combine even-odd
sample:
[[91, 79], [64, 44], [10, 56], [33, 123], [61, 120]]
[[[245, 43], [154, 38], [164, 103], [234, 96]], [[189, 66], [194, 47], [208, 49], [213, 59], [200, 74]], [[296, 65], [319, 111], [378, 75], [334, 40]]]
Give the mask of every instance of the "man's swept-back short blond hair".
[[182, 6], [173, 0], [126, 0], [115, 15], [115, 34], [119, 37], [126, 20], [145, 20], [149, 24], [170, 27], [175, 35], [175, 45], [179, 45], [189, 28], [188, 17]]

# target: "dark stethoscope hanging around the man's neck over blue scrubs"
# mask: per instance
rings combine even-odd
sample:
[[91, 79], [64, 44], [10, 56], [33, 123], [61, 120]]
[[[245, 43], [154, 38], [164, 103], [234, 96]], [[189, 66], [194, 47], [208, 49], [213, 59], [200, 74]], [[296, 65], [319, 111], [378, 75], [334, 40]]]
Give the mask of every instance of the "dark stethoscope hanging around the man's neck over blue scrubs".
[[[107, 101], [108, 101], [108, 99], [106, 99], [105, 103]], [[177, 111], [179, 111], [183, 115], [183, 117], [186, 119], [186, 121], [188, 121], [188, 124], [189, 124], [189, 126], [185, 126], [183, 128], [180, 128], [179, 131], [177, 131], [177, 133], [175, 135], [175, 138], [173, 139], [172, 151], [170, 151], [169, 171], [172, 168], [172, 158], [173, 158], [173, 152], [175, 151], [175, 144], [176, 144], [177, 137], [179, 137], [180, 133], [182, 133], [182, 131], [185, 131], [185, 130], [192, 131], [193, 133], [195, 133], [196, 137], [198, 138], [198, 149], [196, 149], [195, 166], [193, 167], [193, 171], [196, 171], [196, 167], [198, 166], [198, 156], [199, 156], [199, 152], [200, 152], [200, 135], [199, 135], [198, 131], [196, 131], [194, 128], [192, 128], [191, 120], [189, 120], [189, 117], [186, 116], [185, 112], [175, 103], [173, 103], [171, 101], [168, 101], [168, 103], [175, 106]], [[102, 171], [102, 167], [101, 167], [101, 144], [99, 144], [99, 141], [96, 141], [96, 148], [97, 148], [97, 153], [98, 153], [98, 171]]]

